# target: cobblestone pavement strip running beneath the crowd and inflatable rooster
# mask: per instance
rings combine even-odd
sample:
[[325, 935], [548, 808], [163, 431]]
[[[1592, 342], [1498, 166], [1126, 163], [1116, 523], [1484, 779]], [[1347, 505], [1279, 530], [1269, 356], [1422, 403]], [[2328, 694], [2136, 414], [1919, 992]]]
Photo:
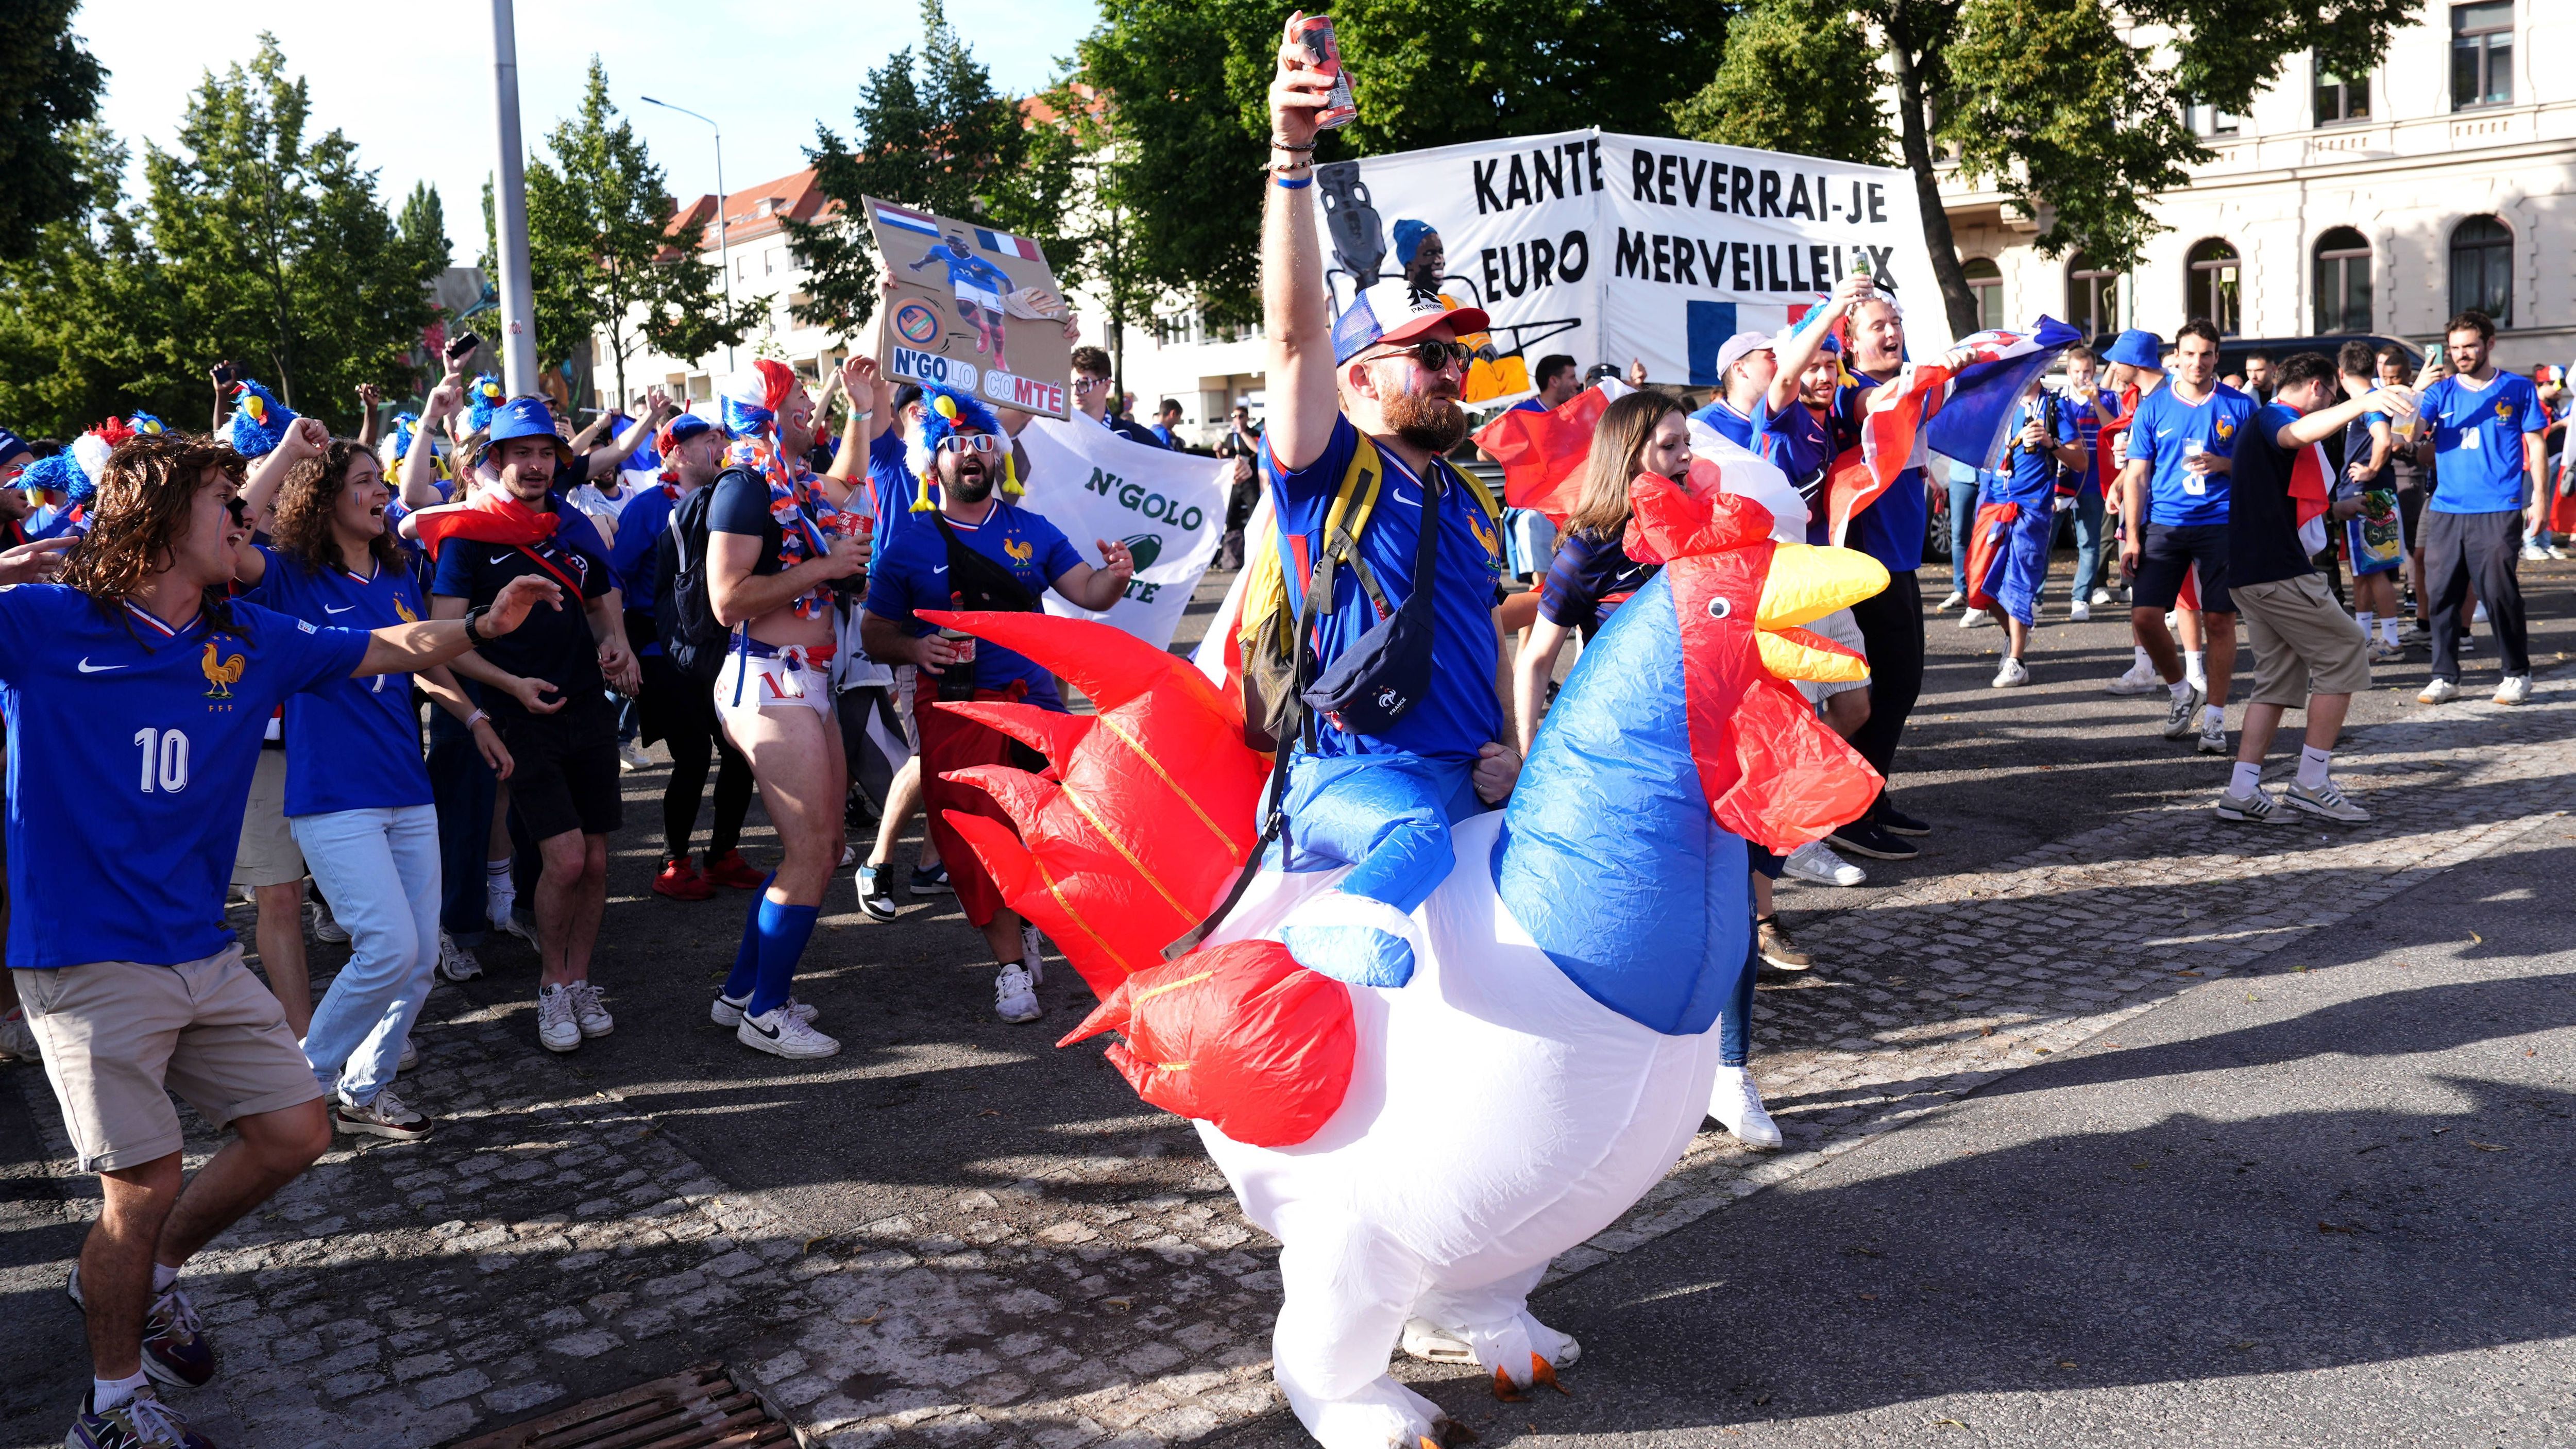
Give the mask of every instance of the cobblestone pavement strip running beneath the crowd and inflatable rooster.
[[[2141, 810], [1814, 915], [1806, 944], [1832, 972], [1765, 987], [1757, 1006], [1754, 1062], [1790, 1150], [1700, 1134], [1553, 1274], [2295, 951], [2306, 931], [2553, 822], [2571, 766], [2576, 686], [2550, 678], [2519, 712], [2458, 704], [2349, 740], [2342, 779], [2378, 812], [2367, 828]], [[2048, 789], [2040, 773], [2022, 779]], [[407, 1083], [440, 1104], [440, 1132], [343, 1145], [191, 1266], [224, 1377], [180, 1400], [227, 1446], [428, 1446], [703, 1356], [747, 1369], [832, 1446], [1144, 1446], [1278, 1408], [1275, 1248], [1175, 1119], [1139, 1106], [1061, 1150], [976, 1160], [994, 1186], [935, 1217], [809, 1238], [778, 1194], [729, 1189], [626, 1096], [536, 1049], [526, 1003], [443, 987], [415, 1039], [425, 1062]], [[8, 1336], [77, 1354], [59, 1281], [95, 1183], [70, 1176], [41, 1075], [13, 1080], [62, 1189], [0, 1220], [44, 1243], [0, 1256]], [[62, 1431], [59, 1387], [77, 1372], [44, 1379], [0, 1390], [0, 1444]]]

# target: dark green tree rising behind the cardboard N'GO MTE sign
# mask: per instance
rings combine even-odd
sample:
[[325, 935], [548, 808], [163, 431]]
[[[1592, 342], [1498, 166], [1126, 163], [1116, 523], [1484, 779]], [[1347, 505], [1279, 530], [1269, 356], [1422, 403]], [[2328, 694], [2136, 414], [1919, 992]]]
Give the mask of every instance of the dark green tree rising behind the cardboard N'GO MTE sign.
[[940, 0], [922, 0], [922, 54], [899, 49], [858, 88], [850, 142], [814, 126], [814, 186], [837, 211], [786, 219], [788, 248], [806, 268], [796, 317], [855, 333], [876, 312], [876, 248], [858, 199], [878, 196], [940, 217], [981, 217], [1036, 240], [1059, 278], [1079, 278], [1066, 248], [1064, 209], [1074, 191], [1074, 144], [1061, 126], [1028, 126], [1020, 101], [948, 23]]

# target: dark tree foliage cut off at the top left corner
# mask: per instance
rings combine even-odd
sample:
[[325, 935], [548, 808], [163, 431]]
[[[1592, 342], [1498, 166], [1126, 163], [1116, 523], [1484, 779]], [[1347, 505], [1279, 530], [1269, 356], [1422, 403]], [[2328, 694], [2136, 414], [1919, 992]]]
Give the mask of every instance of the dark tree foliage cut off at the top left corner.
[[0, 5], [0, 258], [23, 258], [46, 222], [82, 214], [72, 126], [98, 113], [108, 83], [98, 57], [72, 36], [80, 0]]

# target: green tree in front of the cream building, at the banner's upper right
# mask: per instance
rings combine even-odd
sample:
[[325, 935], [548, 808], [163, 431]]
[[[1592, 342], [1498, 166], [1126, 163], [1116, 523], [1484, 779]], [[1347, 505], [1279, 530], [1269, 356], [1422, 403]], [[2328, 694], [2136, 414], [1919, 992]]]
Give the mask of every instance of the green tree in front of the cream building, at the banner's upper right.
[[[2416, 0], [1752, 0], [1716, 80], [1674, 121], [1705, 139], [1914, 173], [1942, 307], [1976, 327], [1940, 162], [2040, 222], [2043, 255], [2136, 266], [2156, 196], [2210, 160], [2187, 103], [2246, 111], [2282, 64], [2316, 52], [2362, 75]], [[1847, 52], [1824, 54], [1821, 31]], [[1855, 70], [1875, 57], [1873, 72]], [[1862, 88], [1868, 98], [1862, 101]], [[1878, 119], [1873, 126], [1870, 119]], [[1893, 142], [1893, 147], [1891, 147]]]

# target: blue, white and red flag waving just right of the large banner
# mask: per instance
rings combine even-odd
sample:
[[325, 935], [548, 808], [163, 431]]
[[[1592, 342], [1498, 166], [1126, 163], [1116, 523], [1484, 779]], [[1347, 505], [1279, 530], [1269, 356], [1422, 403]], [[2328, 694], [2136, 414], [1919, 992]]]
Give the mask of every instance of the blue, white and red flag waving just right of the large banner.
[[1860, 446], [1834, 459], [1834, 474], [1826, 480], [1826, 521], [1834, 541], [1842, 544], [1852, 518], [1878, 503], [1909, 467], [1922, 467], [1932, 451], [1994, 467], [2022, 389], [2076, 340], [2081, 333], [2066, 322], [2040, 317], [2027, 333], [1994, 330], [1960, 338], [1950, 353], [1965, 353], [1958, 369], [1947, 358], [1906, 364], [1891, 382], [1873, 387], [1862, 402]]

